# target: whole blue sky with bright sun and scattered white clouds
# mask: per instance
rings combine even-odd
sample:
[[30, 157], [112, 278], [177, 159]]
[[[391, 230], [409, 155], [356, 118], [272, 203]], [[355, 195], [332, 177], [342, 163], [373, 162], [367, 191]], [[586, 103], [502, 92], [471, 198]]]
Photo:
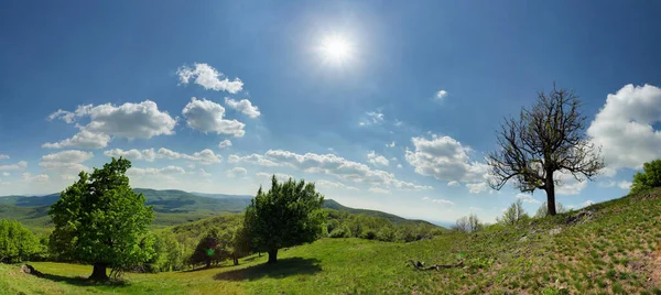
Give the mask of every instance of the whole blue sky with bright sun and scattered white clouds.
[[111, 156], [133, 187], [254, 194], [269, 176], [409, 218], [494, 221], [544, 192], [485, 183], [496, 130], [556, 83], [602, 146], [581, 208], [661, 157], [657, 1], [11, 1], [0, 4], [0, 195]]

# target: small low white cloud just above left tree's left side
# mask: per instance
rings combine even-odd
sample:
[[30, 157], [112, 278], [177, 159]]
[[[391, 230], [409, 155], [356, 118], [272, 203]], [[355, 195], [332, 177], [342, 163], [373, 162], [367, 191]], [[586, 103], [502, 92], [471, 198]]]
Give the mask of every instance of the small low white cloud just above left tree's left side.
[[63, 179], [68, 179], [75, 177], [80, 171], [91, 171], [91, 168], [82, 164], [91, 157], [94, 157], [91, 152], [78, 150], [62, 151], [42, 156], [39, 165], [46, 171], [56, 172]]

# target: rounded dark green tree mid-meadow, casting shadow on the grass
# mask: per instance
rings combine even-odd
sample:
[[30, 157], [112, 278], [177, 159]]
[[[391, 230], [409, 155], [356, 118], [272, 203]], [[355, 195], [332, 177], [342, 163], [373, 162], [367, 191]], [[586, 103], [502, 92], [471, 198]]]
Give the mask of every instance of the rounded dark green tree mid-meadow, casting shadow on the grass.
[[278, 249], [313, 242], [323, 232], [323, 203], [314, 184], [291, 178], [279, 183], [273, 175], [269, 192], [260, 187], [246, 209], [245, 226], [254, 250], [268, 252], [268, 263], [275, 263]]

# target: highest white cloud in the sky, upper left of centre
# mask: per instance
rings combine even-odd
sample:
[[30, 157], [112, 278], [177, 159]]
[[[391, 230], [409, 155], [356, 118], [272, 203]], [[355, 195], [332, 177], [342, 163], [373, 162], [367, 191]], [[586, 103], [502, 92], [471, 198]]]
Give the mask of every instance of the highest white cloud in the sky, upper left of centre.
[[[207, 90], [227, 91], [236, 94], [243, 88], [243, 83], [239, 78], [229, 80], [223, 73], [219, 73], [208, 64], [194, 64], [194, 67], [182, 66], [176, 70], [180, 83], [188, 84], [191, 79]], [[225, 78], [224, 78], [225, 77]], [[224, 78], [224, 79], [221, 79]]]

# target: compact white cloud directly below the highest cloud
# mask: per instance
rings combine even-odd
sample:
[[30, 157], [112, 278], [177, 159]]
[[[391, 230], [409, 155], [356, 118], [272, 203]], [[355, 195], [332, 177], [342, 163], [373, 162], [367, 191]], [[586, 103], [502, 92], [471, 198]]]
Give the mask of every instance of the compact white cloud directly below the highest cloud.
[[246, 124], [237, 120], [226, 120], [225, 108], [214, 101], [191, 98], [184, 107], [182, 114], [186, 118], [189, 128], [202, 132], [216, 132], [217, 134], [231, 134], [236, 138], [243, 136]]

